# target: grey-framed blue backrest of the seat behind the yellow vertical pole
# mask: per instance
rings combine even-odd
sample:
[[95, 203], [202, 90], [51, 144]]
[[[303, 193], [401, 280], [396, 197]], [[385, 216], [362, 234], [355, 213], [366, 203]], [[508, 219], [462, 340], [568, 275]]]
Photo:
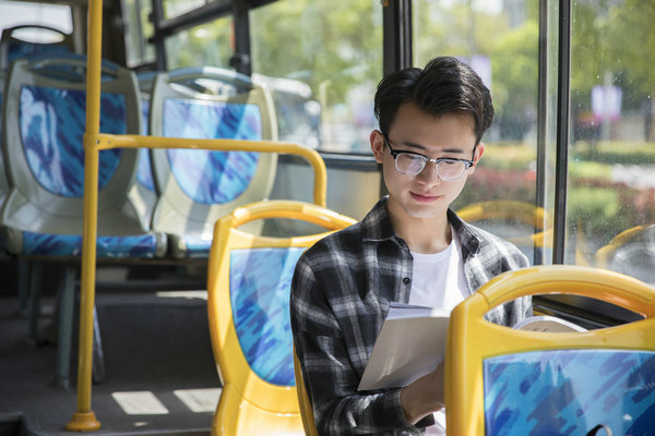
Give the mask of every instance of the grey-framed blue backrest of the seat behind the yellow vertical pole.
[[[84, 194], [86, 59], [36, 57], [12, 63], [3, 105], [3, 152], [11, 194], [0, 223], [28, 232], [81, 234]], [[103, 63], [100, 132], [139, 134], [132, 72]], [[145, 198], [134, 189], [135, 149], [99, 154], [98, 234], [148, 230]]]

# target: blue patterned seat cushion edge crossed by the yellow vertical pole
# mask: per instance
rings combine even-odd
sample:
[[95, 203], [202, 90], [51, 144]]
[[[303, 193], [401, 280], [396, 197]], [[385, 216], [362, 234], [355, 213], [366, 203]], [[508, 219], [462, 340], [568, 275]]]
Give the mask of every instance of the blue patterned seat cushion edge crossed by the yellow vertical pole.
[[[155, 257], [155, 234], [128, 237], [98, 237], [96, 255], [111, 258]], [[82, 255], [82, 237], [75, 234], [47, 234], [23, 231], [23, 254], [46, 256]]]

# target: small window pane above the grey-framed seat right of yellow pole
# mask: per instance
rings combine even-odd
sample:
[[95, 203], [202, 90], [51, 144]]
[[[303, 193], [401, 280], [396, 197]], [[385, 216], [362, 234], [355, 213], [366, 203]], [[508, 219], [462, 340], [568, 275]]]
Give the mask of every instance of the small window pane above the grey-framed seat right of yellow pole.
[[223, 17], [187, 31], [165, 40], [167, 68], [221, 66], [229, 69], [233, 55], [233, 20]]

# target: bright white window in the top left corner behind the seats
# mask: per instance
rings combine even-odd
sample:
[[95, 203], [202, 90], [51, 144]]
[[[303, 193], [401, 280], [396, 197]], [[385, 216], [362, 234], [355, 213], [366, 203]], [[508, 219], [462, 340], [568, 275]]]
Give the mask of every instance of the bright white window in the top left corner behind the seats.
[[[53, 27], [63, 33], [73, 32], [71, 8], [63, 4], [29, 3], [23, 1], [0, 1], [0, 29], [22, 24], [38, 24]], [[56, 43], [49, 32], [36, 32], [21, 35], [22, 39], [32, 43]]]

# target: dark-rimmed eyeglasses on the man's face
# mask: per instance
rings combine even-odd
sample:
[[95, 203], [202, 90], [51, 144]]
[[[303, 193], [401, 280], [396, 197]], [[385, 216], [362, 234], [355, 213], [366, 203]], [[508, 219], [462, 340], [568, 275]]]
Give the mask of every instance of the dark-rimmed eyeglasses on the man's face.
[[[396, 170], [401, 174], [416, 175], [426, 168], [426, 164], [434, 162], [439, 179], [444, 182], [454, 182], [455, 180], [462, 179], [466, 170], [475, 165], [473, 160], [468, 159], [456, 159], [452, 157], [430, 159], [427, 156], [414, 152], [396, 152], [391, 148], [391, 142], [389, 141], [386, 133], [382, 133], [382, 136], [384, 136], [384, 143], [389, 147], [391, 156], [393, 156]], [[473, 147], [473, 156], [475, 156], [476, 147], [477, 144]]]

